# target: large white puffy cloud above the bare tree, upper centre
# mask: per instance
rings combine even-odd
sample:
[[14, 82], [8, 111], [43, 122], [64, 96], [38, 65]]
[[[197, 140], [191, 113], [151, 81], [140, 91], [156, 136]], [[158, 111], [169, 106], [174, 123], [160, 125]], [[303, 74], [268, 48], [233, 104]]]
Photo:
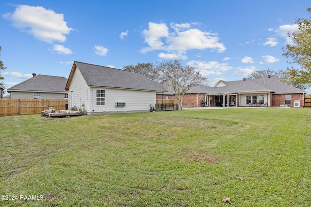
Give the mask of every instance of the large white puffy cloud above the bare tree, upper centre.
[[190, 26], [190, 23], [171, 23], [174, 32], [170, 32], [165, 23], [149, 22], [149, 28], [142, 32], [149, 47], [142, 48], [140, 52], [164, 50], [169, 53], [173, 51], [173, 53], [185, 54], [187, 50], [207, 48], [216, 49], [218, 52], [225, 51], [224, 44], [219, 43], [217, 33], [202, 32], [191, 29]]

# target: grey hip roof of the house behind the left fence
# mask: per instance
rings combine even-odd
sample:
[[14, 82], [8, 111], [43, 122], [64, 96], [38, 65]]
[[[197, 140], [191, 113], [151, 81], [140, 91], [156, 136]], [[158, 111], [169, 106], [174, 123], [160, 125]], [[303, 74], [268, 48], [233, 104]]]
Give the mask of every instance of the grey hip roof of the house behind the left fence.
[[65, 93], [67, 79], [59, 76], [36, 75], [33, 78], [25, 80], [17, 85], [8, 88], [11, 91], [38, 91], [38, 92], [56, 92]]

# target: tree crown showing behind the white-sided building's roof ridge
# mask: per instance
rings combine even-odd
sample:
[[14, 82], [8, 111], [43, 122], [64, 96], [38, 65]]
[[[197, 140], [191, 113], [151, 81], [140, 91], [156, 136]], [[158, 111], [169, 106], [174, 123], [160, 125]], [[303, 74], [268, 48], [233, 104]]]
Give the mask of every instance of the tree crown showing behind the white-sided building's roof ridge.
[[125, 65], [123, 70], [142, 73], [147, 76], [149, 80], [158, 80], [159, 72], [152, 63], [138, 63], [137, 65]]

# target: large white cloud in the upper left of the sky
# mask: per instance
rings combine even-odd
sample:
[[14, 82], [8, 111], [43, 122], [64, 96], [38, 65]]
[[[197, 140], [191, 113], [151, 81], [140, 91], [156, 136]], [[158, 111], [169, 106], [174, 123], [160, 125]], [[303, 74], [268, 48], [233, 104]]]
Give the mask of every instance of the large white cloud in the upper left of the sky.
[[17, 5], [13, 13], [7, 13], [3, 17], [11, 20], [13, 26], [22, 32], [48, 43], [65, 42], [65, 35], [73, 30], [67, 26], [63, 14], [56, 14], [42, 6]]

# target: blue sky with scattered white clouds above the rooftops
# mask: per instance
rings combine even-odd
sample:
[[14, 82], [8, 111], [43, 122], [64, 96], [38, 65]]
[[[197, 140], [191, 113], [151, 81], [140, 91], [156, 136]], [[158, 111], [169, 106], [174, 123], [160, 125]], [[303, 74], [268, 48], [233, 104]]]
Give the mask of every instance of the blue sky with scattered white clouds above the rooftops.
[[[282, 47], [310, 0], [1, 0], [4, 85], [69, 77], [73, 61], [115, 67], [178, 58], [208, 79], [286, 69]], [[307, 90], [311, 93], [311, 90]]]

